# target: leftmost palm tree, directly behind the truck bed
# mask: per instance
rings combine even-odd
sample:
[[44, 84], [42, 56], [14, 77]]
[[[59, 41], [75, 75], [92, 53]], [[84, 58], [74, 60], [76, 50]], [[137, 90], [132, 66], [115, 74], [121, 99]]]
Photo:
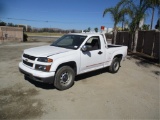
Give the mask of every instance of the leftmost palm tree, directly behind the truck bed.
[[130, 12], [130, 10], [128, 8], [123, 8], [125, 3], [126, 3], [126, 0], [121, 0], [119, 3], [116, 4], [115, 7], [106, 8], [103, 12], [103, 17], [107, 13], [110, 13], [113, 18], [113, 21], [114, 21], [114, 26], [113, 26], [114, 39], [112, 39], [113, 44], [115, 43], [115, 40], [116, 40], [116, 34], [117, 34], [116, 26], [117, 26], [117, 24], [119, 22], [124, 22], [124, 19], [123, 19], [124, 15]]

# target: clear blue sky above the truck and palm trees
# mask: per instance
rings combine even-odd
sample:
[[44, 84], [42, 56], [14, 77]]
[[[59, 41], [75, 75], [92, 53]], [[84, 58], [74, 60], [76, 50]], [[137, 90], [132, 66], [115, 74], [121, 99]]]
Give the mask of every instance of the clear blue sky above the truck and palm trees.
[[[100, 26], [111, 28], [114, 22], [110, 14], [104, 18], [102, 15], [105, 8], [113, 7], [117, 2], [119, 0], [1, 0], [0, 20], [39, 28], [94, 29]], [[151, 10], [147, 13], [145, 23], [150, 24]], [[156, 11], [153, 26], [157, 19]]]

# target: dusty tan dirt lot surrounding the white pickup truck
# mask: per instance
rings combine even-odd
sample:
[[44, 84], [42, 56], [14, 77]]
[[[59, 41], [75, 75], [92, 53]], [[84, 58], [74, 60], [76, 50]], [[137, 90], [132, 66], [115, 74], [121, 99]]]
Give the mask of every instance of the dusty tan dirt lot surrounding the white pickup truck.
[[116, 74], [101, 69], [58, 91], [19, 72], [23, 50], [50, 42], [0, 45], [0, 119], [159, 119], [160, 68], [127, 56]]

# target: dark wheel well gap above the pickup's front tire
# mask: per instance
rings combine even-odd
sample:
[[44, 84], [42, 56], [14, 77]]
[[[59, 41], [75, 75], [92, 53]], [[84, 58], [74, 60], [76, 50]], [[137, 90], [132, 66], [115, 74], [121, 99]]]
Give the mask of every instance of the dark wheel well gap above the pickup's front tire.
[[[66, 62], [66, 63], [62, 63], [60, 64], [58, 67], [57, 67], [57, 70], [62, 67], [62, 66], [69, 66], [71, 67], [74, 71], [75, 71], [75, 74], [77, 74], [77, 65], [76, 65], [76, 62], [74, 61], [70, 61], [70, 62]], [[56, 71], [57, 71], [56, 70]]]

